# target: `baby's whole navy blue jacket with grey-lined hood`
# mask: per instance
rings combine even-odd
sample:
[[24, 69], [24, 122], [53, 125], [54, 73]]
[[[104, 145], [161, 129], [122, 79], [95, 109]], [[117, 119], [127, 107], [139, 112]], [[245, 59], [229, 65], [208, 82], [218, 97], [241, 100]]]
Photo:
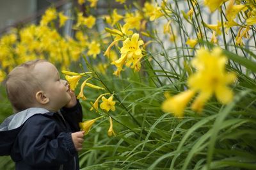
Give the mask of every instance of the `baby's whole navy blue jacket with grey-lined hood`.
[[82, 108], [77, 101], [60, 112], [32, 107], [6, 118], [0, 125], [0, 155], [11, 155], [17, 170], [79, 169], [71, 132], [80, 130]]

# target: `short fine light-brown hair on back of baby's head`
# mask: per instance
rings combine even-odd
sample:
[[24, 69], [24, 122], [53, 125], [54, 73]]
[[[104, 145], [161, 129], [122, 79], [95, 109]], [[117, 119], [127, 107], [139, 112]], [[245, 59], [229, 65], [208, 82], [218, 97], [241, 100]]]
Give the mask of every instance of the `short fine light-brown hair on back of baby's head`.
[[7, 75], [6, 93], [15, 111], [23, 111], [35, 104], [35, 94], [41, 87], [32, 71], [35, 65], [41, 62], [46, 61], [42, 59], [28, 61], [15, 67]]

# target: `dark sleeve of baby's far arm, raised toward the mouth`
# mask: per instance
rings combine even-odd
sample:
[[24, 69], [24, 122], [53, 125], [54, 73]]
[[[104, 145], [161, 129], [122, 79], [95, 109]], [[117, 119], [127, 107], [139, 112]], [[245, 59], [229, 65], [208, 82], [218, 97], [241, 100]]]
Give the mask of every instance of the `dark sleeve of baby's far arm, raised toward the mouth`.
[[63, 107], [61, 109], [61, 114], [63, 115], [65, 121], [68, 122], [72, 132], [77, 132], [80, 130], [79, 122], [83, 120], [82, 106], [77, 100], [77, 104], [74, 107]]

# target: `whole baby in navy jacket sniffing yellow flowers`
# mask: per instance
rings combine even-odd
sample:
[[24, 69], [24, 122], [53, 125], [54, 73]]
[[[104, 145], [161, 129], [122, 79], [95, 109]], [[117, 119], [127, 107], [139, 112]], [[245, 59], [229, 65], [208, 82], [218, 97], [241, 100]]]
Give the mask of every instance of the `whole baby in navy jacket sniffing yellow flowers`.
[[16, 169], [79, 169], [82, 108], [57, 68], [40, 59], [17, 66], [6, 92], [16, 114], [0, 125], [0, 155]]

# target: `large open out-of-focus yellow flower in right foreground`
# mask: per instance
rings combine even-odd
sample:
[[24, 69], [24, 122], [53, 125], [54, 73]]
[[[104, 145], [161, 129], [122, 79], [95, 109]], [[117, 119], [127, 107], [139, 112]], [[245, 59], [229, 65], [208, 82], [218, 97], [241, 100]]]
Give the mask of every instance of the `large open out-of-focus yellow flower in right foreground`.
[[211, 53], [205, 49], [197, 51], [192, 61], [197, 72], [188, 79], [189, 88], [199, 92], [192, 104], [195, 111], [202, 111], [204, 103], [213, 93], [223, 104], [231, 102], [233, 93], [227, 85], [235, 81], [236, 75], [225, 72], [225, 62], [226, 57], [221, 54], [220, 47], [215, 47]]

